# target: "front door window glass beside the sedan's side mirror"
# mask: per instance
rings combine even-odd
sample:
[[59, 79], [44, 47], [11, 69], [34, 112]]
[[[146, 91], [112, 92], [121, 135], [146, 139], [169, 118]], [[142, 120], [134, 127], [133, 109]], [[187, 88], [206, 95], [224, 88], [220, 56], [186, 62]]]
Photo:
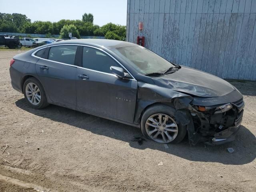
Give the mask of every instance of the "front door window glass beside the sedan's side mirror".
[[82, 67], [100, 72], [111, 73], [110, 67], [120, 67], [118, 63], [106, 53], [91, 47], [83, 50]]

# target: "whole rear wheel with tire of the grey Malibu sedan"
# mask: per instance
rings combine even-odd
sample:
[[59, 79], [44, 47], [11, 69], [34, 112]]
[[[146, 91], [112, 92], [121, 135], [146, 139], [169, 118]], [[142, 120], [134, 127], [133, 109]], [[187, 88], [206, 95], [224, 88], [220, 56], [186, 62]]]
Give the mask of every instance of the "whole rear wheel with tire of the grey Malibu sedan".
[[33, 108], [42, 109], [48, 106], [44, 88], [36, 78], [28, 78], [24, 82], [23, 93], [26, 101]]

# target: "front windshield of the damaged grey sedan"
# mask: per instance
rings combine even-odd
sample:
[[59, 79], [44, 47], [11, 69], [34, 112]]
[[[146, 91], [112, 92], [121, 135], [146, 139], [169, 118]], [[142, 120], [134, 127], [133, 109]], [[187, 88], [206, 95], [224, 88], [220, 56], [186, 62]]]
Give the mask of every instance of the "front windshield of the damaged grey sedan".
[[114, 53], [129, 62], [141, 74], [164, 73], [173, 64], [142, 46], [112, 49]]

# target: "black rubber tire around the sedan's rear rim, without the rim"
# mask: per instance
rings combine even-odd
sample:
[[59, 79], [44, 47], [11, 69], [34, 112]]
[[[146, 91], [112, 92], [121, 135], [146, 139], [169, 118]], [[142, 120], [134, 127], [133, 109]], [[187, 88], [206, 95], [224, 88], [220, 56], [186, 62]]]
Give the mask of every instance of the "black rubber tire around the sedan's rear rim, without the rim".
[[[38, 104], [32, 104], [28, 100], [28, 97], [26, 95], [26, 86], [27, 86], [28, 83], [35, 84], [39, 88], [39, 90], [40, 90], [41, 100], [40, 100], [40, 102]], [[34, 77], [26, 79], [26, 81], [24, 82], [24, 86], [23, 86], [23, 93], [24, 93], [24, 97], [25, 97], [26, 101], [28, 102], [28, 104], [32, 108], [42, 109], [42, 108], [45, 108], [46, 106], [49, 105], [48, 102], [47, 102], [46, 94], [45, 94], [45, 91], [44, 91], [44, 88], [43, 88], [42, 84], [36, 78], [34, 78]]]

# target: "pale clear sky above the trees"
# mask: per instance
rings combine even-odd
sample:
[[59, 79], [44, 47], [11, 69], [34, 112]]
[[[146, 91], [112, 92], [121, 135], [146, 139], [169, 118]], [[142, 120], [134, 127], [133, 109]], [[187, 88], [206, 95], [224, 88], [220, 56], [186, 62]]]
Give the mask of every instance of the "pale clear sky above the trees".
[[126, 25], [127, 0], [0, 0], [1, 13], [25, 14], [31, 21], [82, 20], [92, 13], [94, 24]]

